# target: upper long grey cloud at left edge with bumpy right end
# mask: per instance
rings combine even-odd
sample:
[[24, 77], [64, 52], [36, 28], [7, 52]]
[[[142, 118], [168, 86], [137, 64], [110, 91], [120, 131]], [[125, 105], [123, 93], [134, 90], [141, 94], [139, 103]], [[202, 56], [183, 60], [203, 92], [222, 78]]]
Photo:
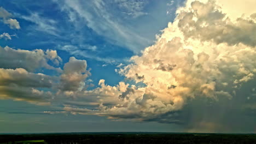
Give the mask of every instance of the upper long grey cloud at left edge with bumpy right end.
[[27, 71], [34, 71], [43, 67], [60, 70], [49, 65], [48, 61], [51, 60], [57, 64], [62, 61], [54, 50], [47, 50], [46, 52], [40, 49], [28, 51], [0, 46], [0, 53], [3, 53], [0, 55], [0, 68], [5, 69], [24, 68]]

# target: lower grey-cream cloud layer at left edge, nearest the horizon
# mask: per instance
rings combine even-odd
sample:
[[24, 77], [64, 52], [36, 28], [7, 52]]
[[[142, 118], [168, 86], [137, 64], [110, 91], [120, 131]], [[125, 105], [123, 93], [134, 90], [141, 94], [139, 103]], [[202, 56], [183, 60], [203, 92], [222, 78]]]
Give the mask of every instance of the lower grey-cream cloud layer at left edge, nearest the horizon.
[[43, 74], [28, 73], [25, 69], [0, 68], [0, 99], [12, 98], [42, 105], [50, 104], [53, 94], [37, 88], [50, 88], [53, 78]]

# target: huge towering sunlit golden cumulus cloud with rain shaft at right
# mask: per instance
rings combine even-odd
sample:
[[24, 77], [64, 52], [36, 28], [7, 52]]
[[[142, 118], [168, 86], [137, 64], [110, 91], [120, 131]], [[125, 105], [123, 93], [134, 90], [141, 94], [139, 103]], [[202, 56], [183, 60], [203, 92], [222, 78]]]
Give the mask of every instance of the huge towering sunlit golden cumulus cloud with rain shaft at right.
[[[255, 14], [231, 20], [214, 1], [188, 1], [156, 43], [119, 70], [146, 86], [120, 82], [111, 87], [101, 80], [101, 87], [84, 92], [88, 97], [97, 95], [99, 107], [68, 105], [64, 110], [178, 123], [194, 131], [231, 130], [241, 125], [234, 119], [242, 115], [249, 115], [244, 120], [252, 123], [254, 118], [248, 113], [255, 110], [256, 102], [255, 32]], [[232, 122], [227, 115], [234, 118]]]

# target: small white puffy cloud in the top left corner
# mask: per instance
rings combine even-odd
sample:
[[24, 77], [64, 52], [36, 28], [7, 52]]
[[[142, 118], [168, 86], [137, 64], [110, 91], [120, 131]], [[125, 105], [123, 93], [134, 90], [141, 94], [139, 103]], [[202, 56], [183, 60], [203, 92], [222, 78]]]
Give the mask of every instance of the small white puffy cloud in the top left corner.
[[11, 29], [20, 29], [20, 23], [16, 19], [11, 19], [11, 16], [12, 15], [7, 10], [0, 7], [0, 18], [3, 18], [3, 22], [9, 25]]

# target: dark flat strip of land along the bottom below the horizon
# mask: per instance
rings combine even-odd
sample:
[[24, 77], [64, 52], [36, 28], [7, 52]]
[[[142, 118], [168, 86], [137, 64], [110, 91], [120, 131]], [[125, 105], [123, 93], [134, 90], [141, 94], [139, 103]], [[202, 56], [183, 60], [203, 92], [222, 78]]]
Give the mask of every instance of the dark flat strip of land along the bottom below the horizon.
[[[31, 142], [27, 142], [31, 140]], [[32, 140], [44, 140], [33, 142]], [[26, 141], [26, 142], [22, 142]], [[0, 143], [241, 143], [256, 144], [255, 134], [168, 134], [168, 133], [95, 133], [0, 135]]]

